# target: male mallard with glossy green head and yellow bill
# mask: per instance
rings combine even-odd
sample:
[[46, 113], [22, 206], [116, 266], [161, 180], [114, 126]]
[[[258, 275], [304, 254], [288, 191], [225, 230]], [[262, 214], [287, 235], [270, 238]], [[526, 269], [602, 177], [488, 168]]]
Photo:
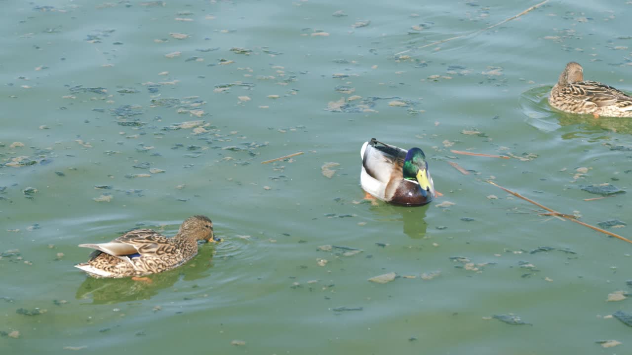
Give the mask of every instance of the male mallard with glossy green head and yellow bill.
[[380, 200], [406, 206], [422, 206], [435, 196], [426, 156], [420, 148], [402, 148], [371, 138], [362, 145], [364, 191]]

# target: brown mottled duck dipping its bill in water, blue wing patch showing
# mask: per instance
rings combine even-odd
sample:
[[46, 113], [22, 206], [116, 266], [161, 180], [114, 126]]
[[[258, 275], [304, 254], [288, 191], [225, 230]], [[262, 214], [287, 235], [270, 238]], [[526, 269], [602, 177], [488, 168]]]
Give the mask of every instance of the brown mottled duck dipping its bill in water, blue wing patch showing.
[[213, 222], [195, 215], [167, 238], [152, 229], [136, 229], [109, 243], [79, 244], [93, 248], [87, 263], [75, 265], [92, 277], [128, 277], [156, 274], [179, 267], [197, 254], [197, 241], [214, 241]]

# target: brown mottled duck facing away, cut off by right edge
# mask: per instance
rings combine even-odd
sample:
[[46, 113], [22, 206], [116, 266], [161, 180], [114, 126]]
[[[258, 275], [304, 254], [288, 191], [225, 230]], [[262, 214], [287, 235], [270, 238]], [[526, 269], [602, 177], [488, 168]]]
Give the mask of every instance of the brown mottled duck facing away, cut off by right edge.
[[549, 95], [558, 110], [595, 117], [632, 117], [632, 97], [599, 81], [584, 81], [580, 64], [571, 62]]

